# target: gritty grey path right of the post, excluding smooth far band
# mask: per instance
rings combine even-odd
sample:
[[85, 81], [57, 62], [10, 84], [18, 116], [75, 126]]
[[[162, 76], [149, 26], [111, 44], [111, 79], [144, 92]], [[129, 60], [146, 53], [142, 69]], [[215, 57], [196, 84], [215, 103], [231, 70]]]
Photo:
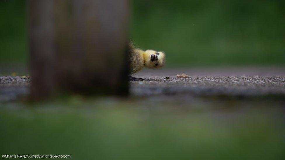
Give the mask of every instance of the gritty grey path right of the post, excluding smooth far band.
[[170, 76], [147, 78], [131, 82], [131, 93], [137, 96], [193, 95], [193, 96], [285, 96], [285, 76], [206, 76], [177, 78]]

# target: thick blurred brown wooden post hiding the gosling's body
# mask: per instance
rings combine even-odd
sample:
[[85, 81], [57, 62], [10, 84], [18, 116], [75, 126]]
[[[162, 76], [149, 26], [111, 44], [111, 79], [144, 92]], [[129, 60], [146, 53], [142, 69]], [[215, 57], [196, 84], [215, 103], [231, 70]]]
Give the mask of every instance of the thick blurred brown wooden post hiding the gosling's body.
[[128, 93], [128, 0], [30, 0], [31, 96]]

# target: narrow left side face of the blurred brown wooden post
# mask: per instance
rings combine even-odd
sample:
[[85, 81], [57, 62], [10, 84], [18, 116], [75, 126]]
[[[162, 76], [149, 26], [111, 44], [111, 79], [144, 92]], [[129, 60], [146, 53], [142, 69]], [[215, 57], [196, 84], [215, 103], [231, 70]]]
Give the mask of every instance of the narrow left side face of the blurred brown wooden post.
[[55, 87], [53, 2], [29, 1], [29, 49], [32, 75], [31, 96], [42, 99]]

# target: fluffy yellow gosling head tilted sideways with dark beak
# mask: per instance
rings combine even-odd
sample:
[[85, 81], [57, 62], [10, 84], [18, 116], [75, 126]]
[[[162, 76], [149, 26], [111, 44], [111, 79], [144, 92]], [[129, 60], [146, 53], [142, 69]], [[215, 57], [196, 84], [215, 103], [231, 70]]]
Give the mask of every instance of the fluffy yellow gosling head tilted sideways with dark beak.
[[157, 52], [154, 50], [146, 50], [145, 55], [145, 67], [147, 68], [161, 68], [165, 62], [164, 52]]

